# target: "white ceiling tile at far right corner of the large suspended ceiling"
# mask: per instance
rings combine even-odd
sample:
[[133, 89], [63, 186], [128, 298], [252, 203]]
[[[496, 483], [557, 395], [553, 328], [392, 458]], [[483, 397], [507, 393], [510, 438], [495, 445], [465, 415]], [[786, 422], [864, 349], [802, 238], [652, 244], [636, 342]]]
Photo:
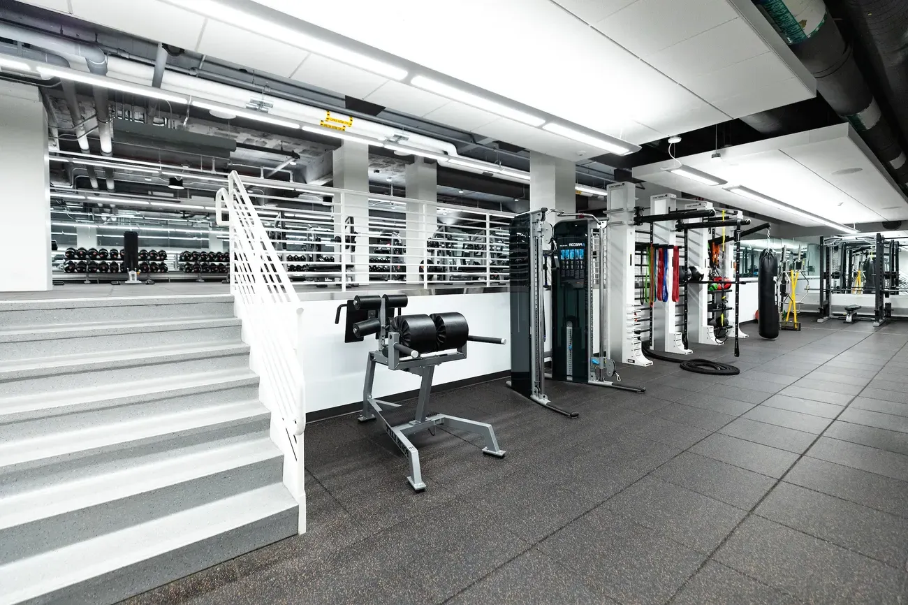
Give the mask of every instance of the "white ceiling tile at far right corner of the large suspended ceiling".
[[728, 65], [716, 72], [683, 80], [681, 84], [711, 101], [726, 98], [730, 90], [736, 94], [751, 94], [769, 84], [782, 82], [791, 77], [791, 71], [778, 55], [767, 51], [763, 55]]

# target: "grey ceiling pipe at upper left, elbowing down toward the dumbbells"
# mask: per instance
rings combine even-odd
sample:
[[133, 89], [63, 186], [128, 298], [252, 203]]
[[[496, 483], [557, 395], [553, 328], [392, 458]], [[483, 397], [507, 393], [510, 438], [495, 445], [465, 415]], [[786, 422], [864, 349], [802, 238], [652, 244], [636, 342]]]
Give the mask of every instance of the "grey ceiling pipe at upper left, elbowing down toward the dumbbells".
[[[27, 45], [37, 46], [46, 50], [52, 50], [64, 55], [81, 56], [88, 66], [88, 71], [92, 74], [107, 75], [107, 55], [104, 54], [104, 50], [102, 50], [100, 46], [75, 42], [57, 35], [45, 34], [44, 32], [4, 22], [0, 22], [0, 37], [15, 40]], [[68, 63], [66, 64], [66, 67], [69, 67]], [[108, 106], [109, 100], [107, 97], [107, 90], [101, 87], [94, 87], [92, 93], [94, 95], [95, 120], [98, 123], [98, 138], [101, 141], [101, 153], [109, 156], [114, 152], [114, 134], [113, 125], [111, 124], [110, 108]], [[75, 121], [76, 118], [74, 117], [73, 119]], [[83, 151], [87, 150], [83, 149]], [[107, 189], [114, 191], [114, 171], [106, 169], [104, 174], [104, 181], [107, 183]]]

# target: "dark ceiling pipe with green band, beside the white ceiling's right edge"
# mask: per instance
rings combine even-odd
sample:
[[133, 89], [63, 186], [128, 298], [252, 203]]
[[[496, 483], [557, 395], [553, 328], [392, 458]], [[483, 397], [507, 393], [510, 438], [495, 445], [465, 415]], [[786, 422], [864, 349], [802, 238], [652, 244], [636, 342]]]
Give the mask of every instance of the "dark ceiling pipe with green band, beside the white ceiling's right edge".
[[[814, 74], [816, 89], [836, 114], [854, 126], [864, 143], [893, 173], [896, 183], [908, 190], [908, 164], [896, 134], [845, 44], [838, 25], [826, 11], [823, 0], [753, 0], [776, 31], [791, 46], [801, 63]], [[895, 0], [898, 1], [898, 0]], [[784, 110], [783, 110], [784, 111]], [[745, 119], [762, 130], [778, 124], [757, 114]]]

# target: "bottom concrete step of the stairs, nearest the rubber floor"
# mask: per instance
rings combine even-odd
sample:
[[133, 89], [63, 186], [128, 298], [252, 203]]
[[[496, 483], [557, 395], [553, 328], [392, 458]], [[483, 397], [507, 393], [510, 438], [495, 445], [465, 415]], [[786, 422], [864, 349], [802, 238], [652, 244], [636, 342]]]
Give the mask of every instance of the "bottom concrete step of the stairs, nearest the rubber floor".
[[296, 534], [282, 483], [0, 566], [0, 605], [103, 605]]

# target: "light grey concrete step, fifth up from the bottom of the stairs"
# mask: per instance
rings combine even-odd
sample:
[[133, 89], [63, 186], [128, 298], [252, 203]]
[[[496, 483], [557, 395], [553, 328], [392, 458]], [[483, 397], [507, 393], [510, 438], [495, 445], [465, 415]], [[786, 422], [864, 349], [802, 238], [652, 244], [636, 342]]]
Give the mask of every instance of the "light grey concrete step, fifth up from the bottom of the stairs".
[[42, 358], [0, 366], [0, 393], [34, 395], [230, 368], [249, 368], [248, 345], [215, 342]]

